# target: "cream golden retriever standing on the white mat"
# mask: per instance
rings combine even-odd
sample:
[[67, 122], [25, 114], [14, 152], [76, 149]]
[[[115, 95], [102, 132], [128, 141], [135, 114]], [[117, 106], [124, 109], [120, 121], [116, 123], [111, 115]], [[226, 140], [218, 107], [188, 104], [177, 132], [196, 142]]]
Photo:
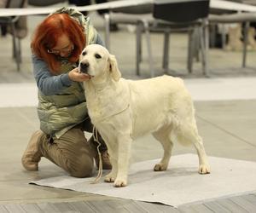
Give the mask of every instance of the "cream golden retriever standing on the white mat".
[[199, 158], [199, 173], [210, 173], [201, 136], [195, 123], [195, 110], [181, 78], [162, 76], [144, 80], [121, 78], [117, 61], [101, 45], [87, 46], [79, 62], [91, 122], [108, 147], [113, 166], [105, 181], [114, 187], [127, 185], [131, 142], [151, 133], [164, 148], [155, 171], [166, 170], [173, 142], [192, 143]]

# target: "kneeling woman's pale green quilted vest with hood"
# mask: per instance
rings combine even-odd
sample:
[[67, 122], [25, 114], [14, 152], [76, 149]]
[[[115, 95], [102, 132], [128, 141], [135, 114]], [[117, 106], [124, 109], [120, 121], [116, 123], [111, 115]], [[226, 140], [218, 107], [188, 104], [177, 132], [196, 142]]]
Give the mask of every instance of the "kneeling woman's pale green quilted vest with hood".
[[[70, 14], [84, 26], [86, 45], [96, 43], [96, 30], [90, 25], [90, 19], [75, 9], [62, 8], [55, 13]], [[67, 73], [76, 65], [61, 60], [61, 73]], [[38, 90], [38, 117], [40, 129], [44, 133], [59, 138], [74, 125], [84, 121], [87, 116], [86, 101], [84, 97], [83, 83], [73, 82], [70, 87], [57, 95], [43, 95]]]

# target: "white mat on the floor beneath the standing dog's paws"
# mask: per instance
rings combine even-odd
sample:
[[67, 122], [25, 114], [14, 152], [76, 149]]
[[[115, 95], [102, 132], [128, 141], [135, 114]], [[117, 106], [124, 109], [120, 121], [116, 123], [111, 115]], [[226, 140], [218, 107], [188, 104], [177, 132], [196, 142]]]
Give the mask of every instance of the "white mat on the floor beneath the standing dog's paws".
[[95, 178], [57, 176], [32, 181], [41, 186], [71, 189], [123, 199], [160, 202], [172, 206], [256, 191], [256, 163], [228, 158], [209, 157], [212, 173], [197, 173], [195, 154], [172, 156], [168, 170], [154, 172], [158, 159], [132, 164], [127, 187], [112, 183], [90, 184]]

